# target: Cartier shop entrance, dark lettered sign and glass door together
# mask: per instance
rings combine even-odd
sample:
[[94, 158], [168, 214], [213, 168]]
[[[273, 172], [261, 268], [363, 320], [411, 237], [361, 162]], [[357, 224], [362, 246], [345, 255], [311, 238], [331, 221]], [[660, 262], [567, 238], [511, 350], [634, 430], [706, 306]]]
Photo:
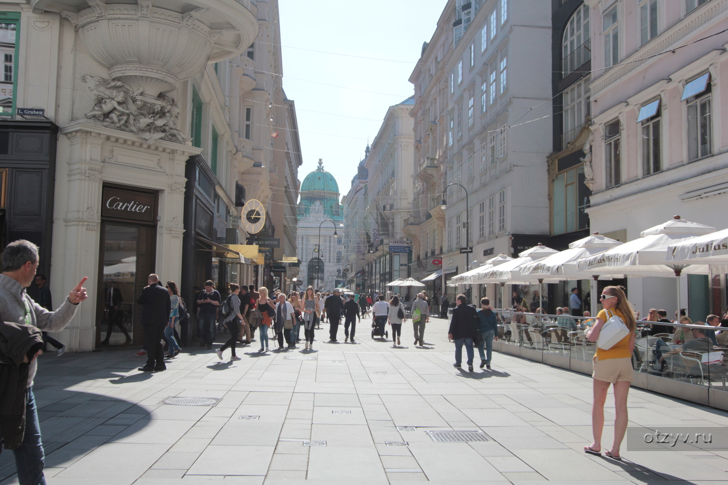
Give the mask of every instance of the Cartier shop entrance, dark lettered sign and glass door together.
[[103, 185], [96, 344], [141, 343], [136, 298], [154, 272], [157, 191]]

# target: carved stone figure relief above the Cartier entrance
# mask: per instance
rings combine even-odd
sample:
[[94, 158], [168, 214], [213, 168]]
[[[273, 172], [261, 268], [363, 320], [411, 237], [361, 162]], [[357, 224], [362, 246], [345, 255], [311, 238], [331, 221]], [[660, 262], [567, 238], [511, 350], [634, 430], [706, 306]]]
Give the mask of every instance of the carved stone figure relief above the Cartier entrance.
[[165, 140], [174, 143], [189, 141], [177, 128], [180, 108], [165, 93], [157, 97], [144, 95], [143, 89], [132, 91], [124, 81], [86, 74], [81, 81], [94, 100], [86, 118], [106, 127], [134, 133], [144, 140]]

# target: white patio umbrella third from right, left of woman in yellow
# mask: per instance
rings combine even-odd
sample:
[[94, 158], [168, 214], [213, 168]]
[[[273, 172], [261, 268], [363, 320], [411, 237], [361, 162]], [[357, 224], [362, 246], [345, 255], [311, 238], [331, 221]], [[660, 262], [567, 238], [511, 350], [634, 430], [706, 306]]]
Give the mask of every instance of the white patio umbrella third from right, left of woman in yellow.
[[[551, 254], [542, 260], [530, 262], [522, 265], [520, 268], [521, 276], [525, 278], [537, 278], [539, 282], [539, 294], [542, 292], [543, 282], [556, 282], [584, 278], [583, 273], [579, 273], [577, 261], [593, 256], [612, 249], [622, 244], [616, 239], [609, 239], [600, 233], [593, 233], [578, 241], [569, 244], [569, 249]], [[612, 279], [611, 276], [595, 276], [595, 278]], [[596, 293], [596, 281], [591, 278], [590, 290], [591, 294]], [[541, 299], [539, 298], [539, 303]], [[592, 298], [592, 305], [589, 309], [594, 312], [596, 309], [596, 298]]]

